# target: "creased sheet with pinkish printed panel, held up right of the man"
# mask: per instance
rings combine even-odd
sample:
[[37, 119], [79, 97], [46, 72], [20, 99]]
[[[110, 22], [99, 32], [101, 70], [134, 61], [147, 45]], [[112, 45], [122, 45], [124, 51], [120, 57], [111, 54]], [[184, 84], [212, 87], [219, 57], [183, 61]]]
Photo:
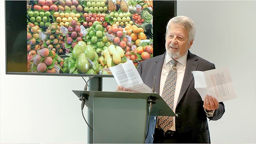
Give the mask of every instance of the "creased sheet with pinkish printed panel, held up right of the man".
[[218, 68], [208, 71], [192, 71], [195, 79], [195, 89], [204, 99], [205, 95], [215, 97], [219, 102], [236, 98], [233, 82], [228, 68]]

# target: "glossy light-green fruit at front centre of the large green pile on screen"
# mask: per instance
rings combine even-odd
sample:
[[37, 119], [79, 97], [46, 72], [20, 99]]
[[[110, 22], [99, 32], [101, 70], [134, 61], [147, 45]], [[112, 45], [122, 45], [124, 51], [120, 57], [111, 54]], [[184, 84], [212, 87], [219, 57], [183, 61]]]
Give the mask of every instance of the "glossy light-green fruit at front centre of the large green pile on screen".
[[87, 60], [86, 54], [81, 53], [77, 61], [77, 69], [80, 74], [86, 74], [89, 70], [89, 62]]

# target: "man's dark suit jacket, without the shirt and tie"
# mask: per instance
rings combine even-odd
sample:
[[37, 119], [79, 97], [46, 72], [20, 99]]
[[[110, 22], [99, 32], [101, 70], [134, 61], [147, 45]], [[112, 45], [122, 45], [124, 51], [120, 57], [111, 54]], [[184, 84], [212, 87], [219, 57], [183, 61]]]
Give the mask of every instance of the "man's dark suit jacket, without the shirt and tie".
[[[153, 87], [155, 79], [155, 92], [159, 93], [159, 85], [165, 54], [147, 59], [138, 65], [138, 72], [143, 82]], [[190, 51], [187, 55], [186, 70], [177, 101], [175, 113], [178, 117], [175, 120], [178, 143], [210, 143], [207, 116], [203, 108], [203, 100], [194, 88], [194, 77], [191, 71], [206, 71], [215, 69], [215, 65], [198, 57]], [[154, 108], [154, 106], [153, 106]], [[210, 120], [218, 120], [224, 114], [224, 104], [219, 103], [219, 108], [215, 110]], [[153, 143], [156, 126], [155, 116], [150, 116], [149, 132], [145, 143]]]

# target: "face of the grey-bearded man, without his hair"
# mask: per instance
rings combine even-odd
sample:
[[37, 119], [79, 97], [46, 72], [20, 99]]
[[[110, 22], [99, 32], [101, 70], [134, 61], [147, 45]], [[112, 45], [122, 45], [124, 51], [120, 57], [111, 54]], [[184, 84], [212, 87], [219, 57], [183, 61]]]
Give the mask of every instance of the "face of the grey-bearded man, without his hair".
[[174, 59], [184, 56], [193, 44], [193, 40], [188, 41], [188, 38], [189, 31], [184, 26], [171, 24], [165, 40], [167, 54]]

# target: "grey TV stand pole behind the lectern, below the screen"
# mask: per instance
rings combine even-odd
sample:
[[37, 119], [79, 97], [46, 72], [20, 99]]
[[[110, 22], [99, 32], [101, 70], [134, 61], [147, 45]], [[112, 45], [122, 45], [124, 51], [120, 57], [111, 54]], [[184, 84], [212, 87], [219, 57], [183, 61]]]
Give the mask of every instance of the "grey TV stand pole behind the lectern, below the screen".
[[[93, 77], [88, 82], [89, 91], [102, 91], [102, 77]], [[88, 108], [87, 110], [87, 121], [90, 127], [93, 129], [93, 113]], [[87, 129], [87, 143], [93, 143], [93, 132], [90, 128]]]

